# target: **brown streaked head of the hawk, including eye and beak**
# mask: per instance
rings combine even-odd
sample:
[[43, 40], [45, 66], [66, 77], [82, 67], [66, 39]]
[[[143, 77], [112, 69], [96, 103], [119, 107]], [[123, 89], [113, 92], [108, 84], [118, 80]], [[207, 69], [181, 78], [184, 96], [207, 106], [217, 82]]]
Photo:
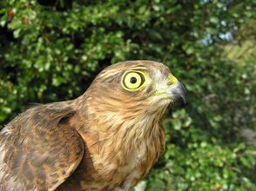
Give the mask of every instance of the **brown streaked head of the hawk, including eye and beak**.
[[186, 101], [185, 88], [163, 63], [128, 61], [102, 70], [86, 91], [97, 109], [127, 119], [163, 115], [171, 102]]

